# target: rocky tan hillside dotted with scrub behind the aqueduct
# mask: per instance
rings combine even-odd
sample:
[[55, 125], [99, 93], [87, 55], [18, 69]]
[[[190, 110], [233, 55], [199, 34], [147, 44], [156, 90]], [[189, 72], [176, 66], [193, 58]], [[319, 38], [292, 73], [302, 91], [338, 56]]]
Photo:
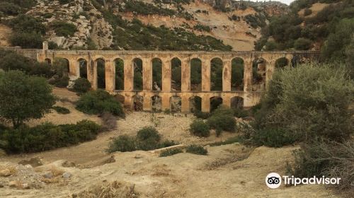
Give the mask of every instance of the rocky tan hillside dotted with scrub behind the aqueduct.
[[[1, 45], [113, 50], [253, 50], [278, 2], [11, 0], [0, 2]], [[13, 31], [13, 34], [9, 33]]]

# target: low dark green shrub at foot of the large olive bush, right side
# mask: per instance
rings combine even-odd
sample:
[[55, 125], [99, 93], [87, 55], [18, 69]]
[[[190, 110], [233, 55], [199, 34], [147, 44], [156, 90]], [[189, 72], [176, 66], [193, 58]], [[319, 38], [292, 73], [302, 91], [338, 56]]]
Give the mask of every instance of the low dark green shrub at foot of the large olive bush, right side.
[[294, 144], [297, 139], [294, 134], [288, 132], [286, 129], [270, 128], [256, 130], [252, 141], [256, 146], [282, 147]]

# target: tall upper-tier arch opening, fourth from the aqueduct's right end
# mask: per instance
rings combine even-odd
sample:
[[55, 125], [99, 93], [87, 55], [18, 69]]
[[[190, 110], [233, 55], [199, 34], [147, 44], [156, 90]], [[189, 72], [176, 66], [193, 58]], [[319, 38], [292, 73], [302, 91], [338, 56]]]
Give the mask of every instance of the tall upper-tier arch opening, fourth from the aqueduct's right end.
[[222, 59], [214, 58], [210, 61], [210, 90], [222, 91]]

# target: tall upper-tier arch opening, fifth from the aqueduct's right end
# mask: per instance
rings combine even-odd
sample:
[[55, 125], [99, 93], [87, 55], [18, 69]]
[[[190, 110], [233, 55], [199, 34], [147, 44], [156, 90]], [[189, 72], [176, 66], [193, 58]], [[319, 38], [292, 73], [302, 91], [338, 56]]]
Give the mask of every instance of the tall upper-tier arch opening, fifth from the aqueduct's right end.
[[190, 60], [190, 91], [202, 91], [202, 61]]

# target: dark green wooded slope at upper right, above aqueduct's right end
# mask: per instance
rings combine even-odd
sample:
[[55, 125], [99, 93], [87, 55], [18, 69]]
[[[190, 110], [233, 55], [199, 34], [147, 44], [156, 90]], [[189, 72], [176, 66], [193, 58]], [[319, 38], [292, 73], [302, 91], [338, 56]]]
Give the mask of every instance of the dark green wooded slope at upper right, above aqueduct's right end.
[[[323, 10], [314, 16], [302, 17], [298, 11], [309, 8], [316, 2], [327, 3]], [[337, 4], [331, 4], [337, 3]], [[309, 50], [321, 45], [322, 57], [330, 61], [343, 61], [344, 51], [350, 43], [354, 30], [354, 2], [350, 0], [297, 0], [290, 13], [271, 18], [269, 25], [262, 30], [262, 37], [255, 43], [256, 50], [266, 46], [266, 50]], [[269, 47], [273, 37], [275, 42]]]

